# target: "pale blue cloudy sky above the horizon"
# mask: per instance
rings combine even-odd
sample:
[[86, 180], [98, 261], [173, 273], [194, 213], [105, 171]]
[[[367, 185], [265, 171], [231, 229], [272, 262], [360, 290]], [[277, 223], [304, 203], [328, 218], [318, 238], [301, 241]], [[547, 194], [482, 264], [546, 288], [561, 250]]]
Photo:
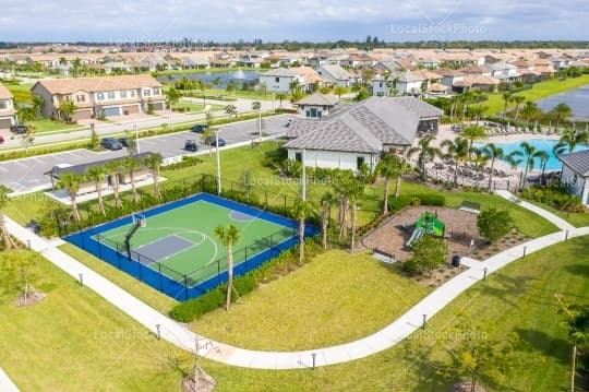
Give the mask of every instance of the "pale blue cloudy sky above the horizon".
[[0, 40], [589, 40], [587, 0], [0, 0]]

